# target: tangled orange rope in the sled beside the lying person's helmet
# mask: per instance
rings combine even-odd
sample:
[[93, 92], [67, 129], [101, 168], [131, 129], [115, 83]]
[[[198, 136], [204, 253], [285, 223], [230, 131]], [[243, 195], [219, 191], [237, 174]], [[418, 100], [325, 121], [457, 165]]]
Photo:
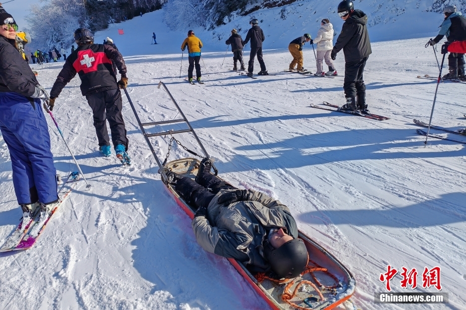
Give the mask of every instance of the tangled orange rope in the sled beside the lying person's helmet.
[[[300, 274], [300, 277], [302, 277], [303, 275], [305, 275], [306, 273], [310, 273], [312, 278], [314, 279], [314, 281], [317, 283], [318, 286], [320, 287], [325, 287], [327, 289], [332, 289], [332, 288], [337, 288], [339, 285], [339, 281], [337, 279], [337, 277], [335, 275], [333, 275], [332, 273], [330, 273], [327, 268], [324, 268], [322, 266], [320, 266], [318, 263], [316, 263], [315, 261], [312, 261], [312, 260], [309, 260], [311, 263], [313, 263], [315, 266], [310, 266], [310, 265], [307, 265], [306, 266], [306, 269]], [[325, 286], [323, 285], [321, 282], [319, 282], [319, 280], [317, 279], [317, 277], [314, 275], [314, 272], [315, 271], [322, 271], [324, 273], [326, 273], [327, 275], [329, 275], [331, 278], [333, 278], [336, 282], [335, 285], [332, 285], [332, 286]], [[279, 283], [279, 284], [287, 284], [287, 286], [285, 286], [285, 289], [283, 290], [283, 293], [282, 293], [282, 300], [285, 301], [286, 303], [288, 303], [289, 305], [291, 305], [292, 307], [295, 307], [299, 310], [309, 310], [309, 307], [302, 307], [302, 306], [299, 306], [297, 305], [296, 303], [290, 301], [291, 299], [293, 299], [296, 294], [298, 293], [298, 289], [301, 287], [301, 285], [304, 285], [304, 284], [308, 284], [308, 285], [311, 285], [315, 290], [316, 292], [319, 294], [319, 297], [321, 299], [321, 301], [324, 301], [325, 297], [324, 295], [322, 294], [322, 292], [320, 291], [320, 289], [316, 286], [316, 284], [314, 284], [313, 282], [311, 281], [308, 281], [308, 280], [301, 280], [298, 285], [296, 285], [295, 289], [293, 290], [293, 292], [289, 292], [289, 290], [291, 289], [291, 287], [293, 286], [293, 284], [295, 283], [295, 280], [297, 278], [294, 278], [294, 279], [282, 279], [282, 280], [278, 280], [278, 279], [274, 279], [274, 278], [271, 278], [267, 275], [265, 275], [265, 273], [263, 272], [259, 272], [256, 274], [256, 279], [259, 281], [259, 282], [262, 282], [264, 281], [265, 279], [268, 279], [268, 280], [271, 280], [273, 282], [276, 282], [276, 283]]]

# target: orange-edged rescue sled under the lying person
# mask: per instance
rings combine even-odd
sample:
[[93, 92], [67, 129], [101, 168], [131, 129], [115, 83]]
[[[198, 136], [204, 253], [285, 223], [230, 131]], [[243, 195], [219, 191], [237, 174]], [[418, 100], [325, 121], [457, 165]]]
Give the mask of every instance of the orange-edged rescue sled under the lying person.
[[[173, 171], [194, 179], [199, 164], [197, 159], [183, 158], [166, 163], [160, 170], [166, 189], [191, 219], [195, 207], [184, 201], [175, 187], [167, 183], [166, 173]], [[351, 272], [302, 231], [299, 231], [299, 238], [306, 244], [309, 263], [303, 273], [294, 279], [278, 281], [268, 278], [264, 273], [251, 273], [238, 260], [228, 258], [228, 261], [274, 310], [331, 309], [348, 300], [356, 287]], [[303, 285], [306, 285], [306, 289], [303, 289]]]

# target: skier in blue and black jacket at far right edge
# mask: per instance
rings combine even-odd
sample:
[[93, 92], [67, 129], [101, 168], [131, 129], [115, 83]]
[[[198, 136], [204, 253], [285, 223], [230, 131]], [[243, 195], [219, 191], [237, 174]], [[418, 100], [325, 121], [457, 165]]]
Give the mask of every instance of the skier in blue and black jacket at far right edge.
[[[456, 6], [447, 6], [443, 9], [445, 19], [441, 25], [438, 36], [430, 39], [428, 44], [435, 45], [443, 36], [446, 36], [448, 42], [465, 41], [466, 40], [466, 18], [461, 15], [461, 12], [456, 12]], [[448, 55], [448, 73], [443, 76], [445, 80], [466, 79], [464, 72], [464, 54], [450, 53]]]

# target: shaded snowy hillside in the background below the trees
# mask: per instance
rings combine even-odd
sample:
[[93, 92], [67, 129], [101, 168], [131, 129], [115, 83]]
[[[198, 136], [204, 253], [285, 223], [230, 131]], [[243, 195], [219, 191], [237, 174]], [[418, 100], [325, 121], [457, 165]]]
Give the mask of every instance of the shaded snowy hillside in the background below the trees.
[[[193, 28], [195, 34], [204, 44], [203, 52], [225, 51], [225, 40], [231, 35], [231, 29], [238, 29], [246, 37], [251, 27], [251, 18], [257, 18], [266, 35], [264, 49], [283, 49], [295, 38], [305, 33], [314, 38], [320, 28], [320, 21], [330, 19], [335, 33], [341, 30], [343, 21], [338, 17], [336, 8], [339, 0], [331, 1], [297, 1], [291, 5], [273, 9], [262, 9], [248, 16], [234, 16], [227, 24], [205, 31]], [[434, 37], [438, 26], [443, 21], [441, 14], [424, 12], [432, 1], [429, 0], [392, 0], [392, 1], [356, 1], [355, 8], [363, 10], [369, 17], [369, 36], [372, 42], [410, 38]], [[98, 32], [95, 42], [101, 43], [107, 37], [114, 40], [125, 56], [152, 54], [181, 54], [180, 46], [188, 29], [168, 30], [163, 23], [164, 10], [155, 11], [135, 17], [134, 19], [110, 25], [109, 29]], [[123, 29], [124, 35], [118, 34]], [[158, 45], [151, 45], [152, 33], [157, 36]], [[336, 38], [335, 38], [336, 40]], [[335, 43], [335, 42], [334, 42]], [[408, 53], [410, 47], [400, 46], [397, 53]], [[246, 48], [249, 50], [249, 45]], [[178, 56], [178, 55], [176, 55]]]

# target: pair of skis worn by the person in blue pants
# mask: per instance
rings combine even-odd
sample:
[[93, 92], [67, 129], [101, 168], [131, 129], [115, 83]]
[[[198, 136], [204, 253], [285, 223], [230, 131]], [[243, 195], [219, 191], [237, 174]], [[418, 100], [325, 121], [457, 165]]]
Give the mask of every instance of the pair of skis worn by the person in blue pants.
[[69, 174], [58, 192], [59, 200], [52, 205], [52, 209], [48, 210], [45, 216], [41, 216], [41, 208], [37, 207], [30, 217], [23, 217], [12, 235], [0, 248], [0, 252], [26, 250], [33, 247], [55, 211], [66, 201], [71, 191], [76, 187], [79, 179], [80, 174], [78, 172]]

